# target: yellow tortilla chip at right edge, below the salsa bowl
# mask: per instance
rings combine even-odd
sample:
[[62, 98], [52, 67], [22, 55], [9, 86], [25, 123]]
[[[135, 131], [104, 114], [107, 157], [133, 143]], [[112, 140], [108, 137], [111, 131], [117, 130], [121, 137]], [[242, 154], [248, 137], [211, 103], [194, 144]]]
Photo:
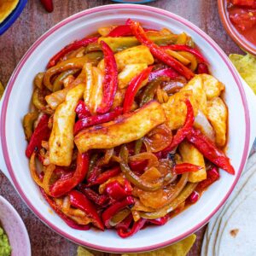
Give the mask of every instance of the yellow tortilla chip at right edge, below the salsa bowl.
[[256, 94], [256, 57], [250, 54], [232, 54], [230, 55], [230, 60], [241, 74], [241, 77], [245, 79]]

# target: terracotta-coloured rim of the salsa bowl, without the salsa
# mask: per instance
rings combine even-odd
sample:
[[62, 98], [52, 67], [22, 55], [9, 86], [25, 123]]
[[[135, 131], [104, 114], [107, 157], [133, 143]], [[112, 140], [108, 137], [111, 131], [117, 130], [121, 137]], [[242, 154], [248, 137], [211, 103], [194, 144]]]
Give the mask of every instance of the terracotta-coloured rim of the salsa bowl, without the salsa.
[[218, 15], [222, 21], [225, 31], [230, 35], [230, 38], [232, 38], [236, 44], [241, 47], [241, 49], [244, 49], [252, 55], [256, 55], [256, 45], [244, 38], [241, 33], [236, 30], [236, 27], [232, 25], [228, 16], [226, 4], [227, 0], [218, 0]]

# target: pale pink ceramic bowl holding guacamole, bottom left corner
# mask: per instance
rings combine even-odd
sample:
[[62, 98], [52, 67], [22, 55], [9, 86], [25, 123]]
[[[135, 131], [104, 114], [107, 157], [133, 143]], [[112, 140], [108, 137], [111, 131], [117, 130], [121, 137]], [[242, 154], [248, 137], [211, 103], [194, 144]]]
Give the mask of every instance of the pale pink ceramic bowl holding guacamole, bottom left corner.
[[0, 222], [9, 238], [11, 256], [30, 256], [31, 247], [26, 226], [15, 208], [0, 195]]

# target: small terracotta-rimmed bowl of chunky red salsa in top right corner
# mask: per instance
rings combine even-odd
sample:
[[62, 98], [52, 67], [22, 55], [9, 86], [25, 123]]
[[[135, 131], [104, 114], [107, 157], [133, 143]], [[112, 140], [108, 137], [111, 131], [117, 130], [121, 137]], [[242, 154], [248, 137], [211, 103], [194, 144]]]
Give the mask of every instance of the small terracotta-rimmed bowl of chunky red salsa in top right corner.
[[218, 0], [218, 13], [236, 44], [256, 55], [256, 0]]

